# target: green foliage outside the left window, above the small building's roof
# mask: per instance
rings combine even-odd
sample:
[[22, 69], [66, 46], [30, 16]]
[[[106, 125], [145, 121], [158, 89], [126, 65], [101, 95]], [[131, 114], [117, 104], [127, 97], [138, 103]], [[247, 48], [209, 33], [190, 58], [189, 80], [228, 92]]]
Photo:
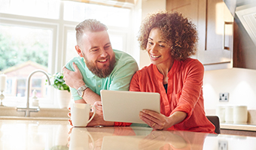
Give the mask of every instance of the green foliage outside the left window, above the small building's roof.
[[32, 61], [48, 66], [48, 44], [38, 41], [26, 43], [26, 39], [13, 40], [0, 33], [0, 71]]

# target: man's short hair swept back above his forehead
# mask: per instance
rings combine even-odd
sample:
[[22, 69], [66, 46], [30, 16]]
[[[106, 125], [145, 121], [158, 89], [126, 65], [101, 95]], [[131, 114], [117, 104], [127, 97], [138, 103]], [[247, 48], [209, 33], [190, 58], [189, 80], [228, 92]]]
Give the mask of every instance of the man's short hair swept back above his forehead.
[[75, 27], [77, 43], [79, 43], [79, 40], [81, 40], [81, 36], [87, 31], [95, 32], [107, 30], [108, 27], [105, 26], [103, 23], [100, 23], [98, 20], [84, 20]]

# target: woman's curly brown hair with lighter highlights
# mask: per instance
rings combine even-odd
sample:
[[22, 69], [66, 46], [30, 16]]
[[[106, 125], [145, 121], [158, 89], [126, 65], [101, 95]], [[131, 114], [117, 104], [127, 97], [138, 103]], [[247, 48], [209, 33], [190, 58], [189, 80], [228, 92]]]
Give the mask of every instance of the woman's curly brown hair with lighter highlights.
[[139, 31], [139, 44], [146, 49], [148, 36], [152, 28], [159, 28], [163, 40], [170, 46], [173, 58], [184, 60], [197, 50], [197, 28], [178, 12], [158, 11], [143, 20]]

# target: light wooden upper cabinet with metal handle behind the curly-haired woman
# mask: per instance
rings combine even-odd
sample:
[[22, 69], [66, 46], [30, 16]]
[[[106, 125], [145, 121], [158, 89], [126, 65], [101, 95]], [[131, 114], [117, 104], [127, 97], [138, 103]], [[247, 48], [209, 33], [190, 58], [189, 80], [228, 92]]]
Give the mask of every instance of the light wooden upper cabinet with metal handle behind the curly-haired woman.
[[197, 26], [198, 58], [207, 70], [232, 68], [233, 16], [222, 0], [167, 0], [166, 10], [178, 11]]

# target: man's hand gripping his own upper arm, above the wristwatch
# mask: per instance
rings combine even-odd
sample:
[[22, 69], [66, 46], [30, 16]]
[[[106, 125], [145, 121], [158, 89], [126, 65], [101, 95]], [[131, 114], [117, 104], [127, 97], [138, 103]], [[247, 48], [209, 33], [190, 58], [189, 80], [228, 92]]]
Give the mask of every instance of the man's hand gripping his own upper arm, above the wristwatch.
[[78, 89], [81, 86], [84, 86], [84, 80], [81, 72], [79, 71], [79, 68], [77, 65], [75, 65], [75, 62], [73, 62], [73, 67], [75, 71], [69, 71], [65, 66], [62, 68], [64, 78], [66, 85], [68, 85], [71, 88]]

